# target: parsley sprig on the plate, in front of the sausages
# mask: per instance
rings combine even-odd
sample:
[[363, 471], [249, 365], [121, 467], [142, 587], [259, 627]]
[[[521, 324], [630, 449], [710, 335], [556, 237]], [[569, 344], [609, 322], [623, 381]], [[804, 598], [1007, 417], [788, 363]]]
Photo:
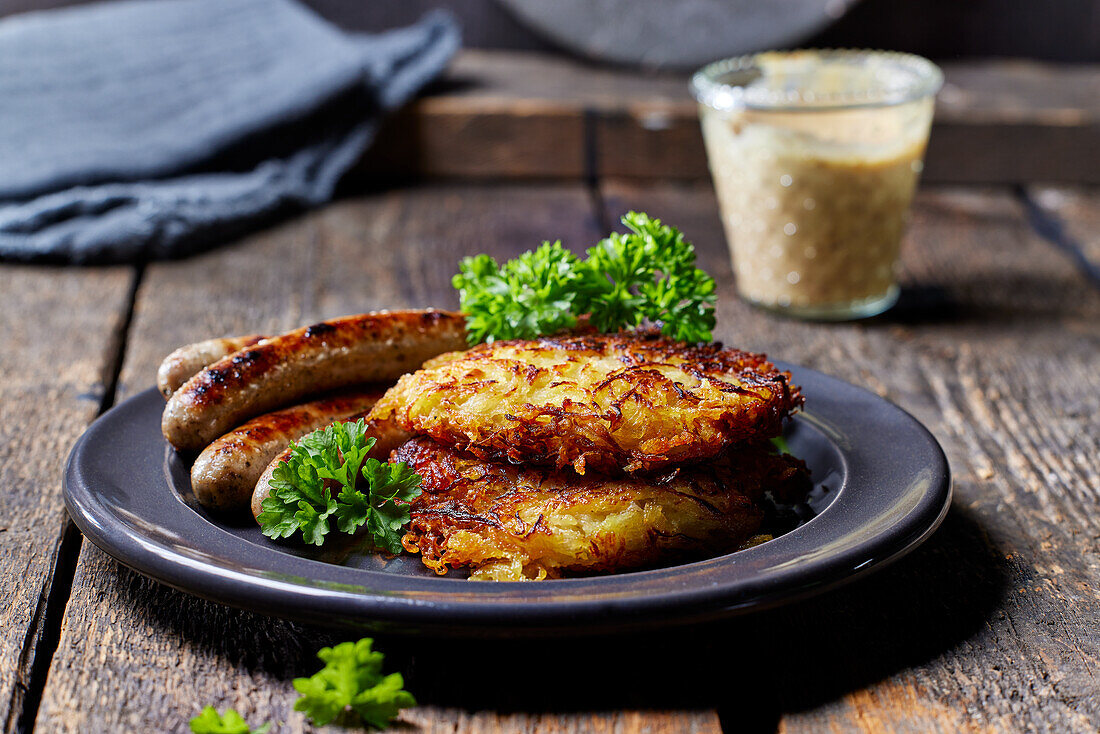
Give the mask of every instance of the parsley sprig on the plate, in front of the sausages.
[[405, 463], [367, 459], [373, 447], [362, 419], [333, 424], [292, 443], [262, 504], [264, 535], [286, 538], [300, 530], [306, 543], [319, 546], [334, 521], [350, 535], [365, 526], [375, 547], [402, 552], [399, 530], [409, 522], [407, 503], [420, 494], [420, 475]]

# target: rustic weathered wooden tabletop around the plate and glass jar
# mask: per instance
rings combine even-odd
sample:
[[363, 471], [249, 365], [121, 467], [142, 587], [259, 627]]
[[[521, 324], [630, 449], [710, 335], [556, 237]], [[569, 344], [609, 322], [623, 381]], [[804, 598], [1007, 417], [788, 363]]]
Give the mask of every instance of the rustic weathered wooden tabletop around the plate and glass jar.
[[872, 577], [721, 624], [378, 637], [421, 701], [396, 731], [1100, 728], [1100, 194], [926, 185], [899, 306], [812, 325], [737, 299], [705, 179], [482, 178], [360, 190], [180, 262], [0, 266], [6, 732], [183, 732], [207, 703], [328, 731], [292, 711], [290, 679], [348, 633], [200, 601], [84, 543], [61, 499], [69, 447], [179, 344], [453, 307], [461, 254], [584, 248], [629, 208], [694, 240], [721, 284], [719, 338], [865, 385], [927, 425], [950, 460], [952, 512]]

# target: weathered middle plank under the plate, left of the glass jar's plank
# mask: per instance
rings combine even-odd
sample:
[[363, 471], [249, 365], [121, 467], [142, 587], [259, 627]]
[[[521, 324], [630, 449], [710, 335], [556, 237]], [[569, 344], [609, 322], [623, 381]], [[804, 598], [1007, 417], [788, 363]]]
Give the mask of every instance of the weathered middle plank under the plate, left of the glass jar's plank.
[[[152, 265], [139, 292], [120, 393], [152, 384], [165, 353], [212, 333], [286, 329], [381, 307], [453, 307], [450, 277], [462, 254], [510, 256], [557, 237], [578, 247], [597, 237], [582, 187], [444, 186], [342, 201], [240, 244]], [[317, 648], [346, 636], [204, 602], [86, 544], [38, 728], [182, 732], [212, 703], [254, 723], [286, 722], [279, 732], [315, 731], [292, 711], [290, 679], [319, 667]], [[579, 702], [546, 677], [538, 679], [540, 690], [531, 689], [536, 698], [525, 713], [513, 713], [516, 692], [529, 686], [507, 672], [516, 660], [513, 644], [491, 646], [487, 658], [476, 642], [380, 639], [378, 646], [424, 703], [404, 716], [421, 731], [719, 731], [713, 704], [667, 694], [622, 699], [618, 683], [612, 689], [622, 703], [614, 697]], [[471, 675], [472, 665], [479, 672]], [[704, 710], [672, 711], [684, 706]]]

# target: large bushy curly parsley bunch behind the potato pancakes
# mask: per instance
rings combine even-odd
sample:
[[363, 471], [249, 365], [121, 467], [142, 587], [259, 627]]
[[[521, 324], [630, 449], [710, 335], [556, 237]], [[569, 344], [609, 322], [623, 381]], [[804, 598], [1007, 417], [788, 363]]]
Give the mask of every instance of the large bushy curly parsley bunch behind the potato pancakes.
[[504, 264], [464, 258], [453, 284], [470, 341], [534, 339], [575, 327], [583, 315], [600, 331], [650, 321], [674, 339], [710, 341], [715, 284], [695, 267], [695, 248], [649, 215], [630, 211], [623, 223], [628, 231], [602, 240], [586, 260], [561, 242]]

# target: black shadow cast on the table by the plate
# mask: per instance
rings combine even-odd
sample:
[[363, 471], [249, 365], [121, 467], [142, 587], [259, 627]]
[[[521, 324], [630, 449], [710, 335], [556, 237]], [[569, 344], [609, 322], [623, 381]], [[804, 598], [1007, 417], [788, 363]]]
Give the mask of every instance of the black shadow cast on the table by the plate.
[[[386, 654], [386, 669], [402, 671], [422, 704], [540, 713], [718, 708], [727, 731], [774, 731], [783, 712], [836, 700], [972, 637], [1005, 593], [1002, 561], [972, 515], [956, 505], [909, 557], [777, 610], [624, 636], [376, 635], [375, 646]], [[358, 636], [153, 585], [153, 599], [135, 602], [144, 621], [277, 679], [315, 672], [318, 648]], [[165, 594], [179, 599], [157, 602]], [[194, 611], [180, 613], [187, 606]]]

